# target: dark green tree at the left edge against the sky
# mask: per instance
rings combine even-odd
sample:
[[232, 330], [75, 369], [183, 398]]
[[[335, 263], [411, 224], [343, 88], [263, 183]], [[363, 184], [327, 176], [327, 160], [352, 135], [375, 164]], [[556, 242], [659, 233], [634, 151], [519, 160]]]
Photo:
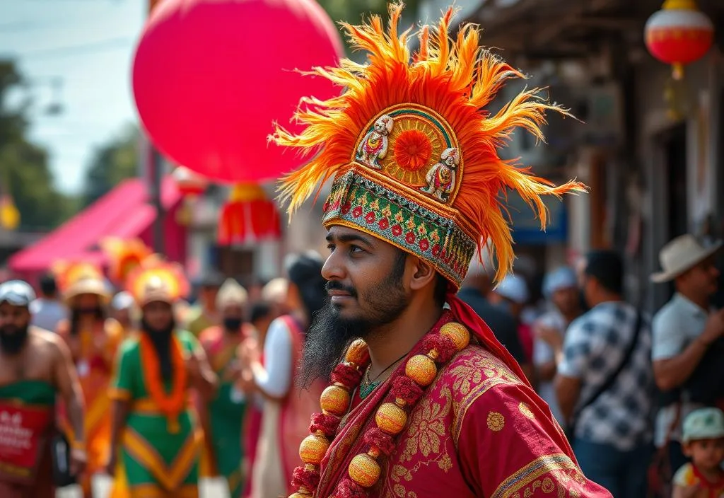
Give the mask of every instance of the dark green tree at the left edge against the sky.
[[54, 185], [48, 153], [27, 138], [27, 106], [9, 106], [9, 92], [22, 83], [14, 62], [0, 61], [0, 185], [20, 211], [20, 229], [51, 229], [72, 214], [72, 198]]

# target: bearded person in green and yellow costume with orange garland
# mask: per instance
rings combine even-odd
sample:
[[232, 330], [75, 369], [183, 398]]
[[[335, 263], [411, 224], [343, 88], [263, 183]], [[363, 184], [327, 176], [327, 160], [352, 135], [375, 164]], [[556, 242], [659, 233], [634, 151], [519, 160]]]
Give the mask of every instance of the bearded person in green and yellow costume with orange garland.
[[120, 349], [111, 390], [113, 496], [196, 498], [203, 437], [189, 389], [208, 400], [216, 376], [197, 339], [174, 322], [173, 305], [188, 284], [180, 267], [151, 258], [127, 287], [142, 318], [139, 334]]

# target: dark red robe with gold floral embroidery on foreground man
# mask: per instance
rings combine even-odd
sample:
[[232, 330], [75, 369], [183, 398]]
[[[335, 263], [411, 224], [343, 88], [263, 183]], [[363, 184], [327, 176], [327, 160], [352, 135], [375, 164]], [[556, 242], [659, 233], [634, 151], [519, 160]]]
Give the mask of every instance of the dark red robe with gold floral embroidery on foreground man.
[[[466, 318], [458, 321], [469, 326]], [[430, 333], [453, 320], [452, 313], [444, 313]], [[610, 498], [583, 476], [563, 430], [528, 382], [513, 373], [519, 369], [506, 364], [510, 358], [494, 355], [489, 350], [497, 349], [494, 345], [483, 347], [487, 335], [475, 335], [474, 344], [425, 389], [395, 452], [379, 459], [382, 477], [370, 496]], [[419, 344], [411, 355], [421, 349]], [[404, 365], [342, 421], [322, 462], [316, 497], [333, 496], [350, 460], [369, 449], [361, 435], [374, 426], [376, 408], [391, 400], [392, 381], [404, 373]]]

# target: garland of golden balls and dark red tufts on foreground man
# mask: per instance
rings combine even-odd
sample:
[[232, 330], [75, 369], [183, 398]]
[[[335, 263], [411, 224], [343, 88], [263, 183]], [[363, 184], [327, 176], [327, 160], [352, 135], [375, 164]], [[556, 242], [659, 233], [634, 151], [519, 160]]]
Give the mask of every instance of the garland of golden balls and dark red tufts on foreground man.
[[[394, 402], [384, 402], [377, 408], [376, 427], [368, 429], [364, 434], [364, 442], [369, 450], [353, 457], [348, 466], [348, 476], [337, 484], [332, 498], [369, 496], [369, 489], [379, 481], [382, 473], [379, 457], [389, 456], [395, 450], [395, 437], [405, 429], [408, 413], [417, 404], [424, 388], [432, 384], [437, 376], [436, 363], [445, 365], [468, 342], [468, 329], [452, 321], [440, 327], [437, 334], [428, 334], [423, 339], [427, 353], [408, 359], [405, 375], [392, 382], [390, 399], [394, 399]], [[320, 398], [322, 412], [312, 416], [309, 427], [311, 434], [300, 444], [299, 456], [304, 465], [294, 470], [292, 485], [298, 491], [289, 498], [310, 498], [319, 486], [319, 464], [337, 433], [341, 417], [348, 413], [350, 393], [360, 384], [362, 371], [368, 364], [367, 345], [362, 339], [357, 339], [348, 347], [345, 360], [332, 371], [332, 384], [324, 389]]]

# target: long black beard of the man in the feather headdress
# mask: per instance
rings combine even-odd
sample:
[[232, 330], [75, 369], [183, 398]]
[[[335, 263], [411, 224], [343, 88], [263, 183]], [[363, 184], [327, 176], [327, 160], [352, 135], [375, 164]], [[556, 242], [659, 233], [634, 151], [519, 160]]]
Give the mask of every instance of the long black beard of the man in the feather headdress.
[[342, 318], [340, 311], [331, 301], [321, 308], [313, 318], [304, 342], [300, 377], [302, 387], [311, 384], [315, 379], [329, 379], [334, 367], [342, 359], [342, 354], [353, 339], [368, 338], [370, 333], [379, 326], [390, 324], [405, 311], [410, 304], [410, 296], [402, 286], [405, 271], [406, 254], [400, 250], [400, 256], [390, 275], [371, 289], [358, 292], [337, 280], [327, 282], [327, 290], [344, 290], [351, 297], [366, 303], [370, 311], [367, 316]]

